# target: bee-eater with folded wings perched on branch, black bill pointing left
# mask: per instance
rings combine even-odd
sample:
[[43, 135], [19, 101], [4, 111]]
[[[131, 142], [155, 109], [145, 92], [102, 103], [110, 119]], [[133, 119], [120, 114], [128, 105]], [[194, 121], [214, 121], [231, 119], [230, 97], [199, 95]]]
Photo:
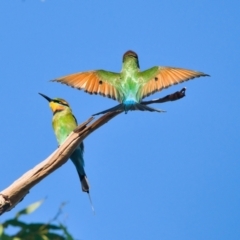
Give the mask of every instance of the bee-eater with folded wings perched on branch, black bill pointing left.
[[[53, 112], [53, 130], [57, 137], [59, 145], [61, 145], [68, 137], [68, 135], [77, 127], [77, 120], [74, 117], [67, 101], [62, 98], [51, 99], [42, 93], [39, 94], [49, 102], [49, 106]], [[90, 187], [84, 170], [83, 150], [84, 146], [83, 143], [81, 143], [78, 148], [76, 148], [76, 150], [72, 153], [70, 159], [77, 169], [82, 185], [82, 191], [89, 194]]]

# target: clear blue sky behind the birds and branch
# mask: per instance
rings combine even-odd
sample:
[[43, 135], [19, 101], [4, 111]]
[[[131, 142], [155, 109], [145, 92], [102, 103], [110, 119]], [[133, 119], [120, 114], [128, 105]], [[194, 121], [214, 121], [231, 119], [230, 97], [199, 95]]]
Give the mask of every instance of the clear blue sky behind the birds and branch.
[[47, 196], [26, 221], [61, 221], [78, 239], [210, 240], [240, 237], [238, 88], [240, 3], [224, 1], [0, 2], [0, 137], [3, 190], [57, 147], [48, 103], [66, 99], [79, 123], [116, 105], [49, 80], [93, 69], [121, 70], [138, 53], [142, 70], [203, 71], [186, 97], [153, 107], [167, 113], [121, 114], [85, 140], [94, 216], [69, 161], [12, 212]]

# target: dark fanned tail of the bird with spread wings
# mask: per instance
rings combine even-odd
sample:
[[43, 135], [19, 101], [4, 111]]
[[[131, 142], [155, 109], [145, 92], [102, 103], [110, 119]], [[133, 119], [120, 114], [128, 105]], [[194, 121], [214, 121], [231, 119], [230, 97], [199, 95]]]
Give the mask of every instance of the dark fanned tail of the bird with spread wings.
[[118, 104], [117, 106], [115, 106], [113, 108], [109, 108], [105, 111], [95, 113], [92, 116], [105, 114], [107, 112], [115, 112], [115, 111], [123, 112], [123, 111], [125, 111], [125, 113], [127, 113], [128, 111], [135, 111], [135, 110], [150, 111], [150, 112], [165, 112], [164, 110], [151, 108], [151, 107], [148, 107], [147, 105], [144, 105], [144, 104], [141, 104], [141, 103], [135, 103], [135, 104], [131, 104], [131, 105], [124, 105], [124, 104], [121, 103], [121, 104]]

